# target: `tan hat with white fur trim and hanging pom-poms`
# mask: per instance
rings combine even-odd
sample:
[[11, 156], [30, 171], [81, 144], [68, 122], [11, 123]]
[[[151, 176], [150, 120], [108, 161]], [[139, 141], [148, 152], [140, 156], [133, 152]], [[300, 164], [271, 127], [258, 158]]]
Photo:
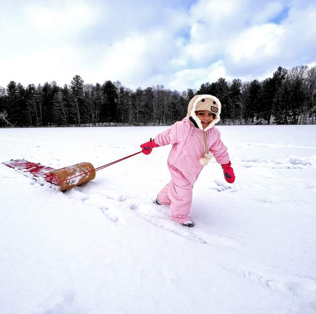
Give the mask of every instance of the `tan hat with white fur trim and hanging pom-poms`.
[[[209, 148], [205, 132], [220, 121], [221, 108], [222, 106], [219, 99], [212, 95], [196, 95], [190, 100], [187, 107], [187, 118], [192, 117], [196, 122], [197, 127], [203, 131], [203, 155], [200, 159], [200, 164], [202, 166], [207, 165], [209, 160], [213, 157], [213, 155], [210, 154], [208, 150]], [[213, 121], [205, 129], [203, 129], [201, 120], [195, 114], [195, 112], [199, 110], [208, 110], [215, 115]]]

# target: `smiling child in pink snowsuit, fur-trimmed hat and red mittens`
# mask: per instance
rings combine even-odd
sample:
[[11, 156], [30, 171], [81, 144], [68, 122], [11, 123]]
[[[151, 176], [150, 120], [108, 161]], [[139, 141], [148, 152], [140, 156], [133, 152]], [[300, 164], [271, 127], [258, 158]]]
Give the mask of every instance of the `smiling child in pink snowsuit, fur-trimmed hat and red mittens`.
[[167, 161], [171, 182], [159, 192], [156, 202], [171, 205], [171, 218], [182, 226], [194, 226], [190, 220], [193, 184], [212, 154], [222, 165], [225, 180], [228, 183], [235, 181], [227, 148], [214, 126], [220, 120], [220, 114], [221, 103], [216, 97], [196, 95], [189, 102], [185, 118], [154, 140], [140, 145], [142, 152], [148, 155], [155, 147], [172, 144]]

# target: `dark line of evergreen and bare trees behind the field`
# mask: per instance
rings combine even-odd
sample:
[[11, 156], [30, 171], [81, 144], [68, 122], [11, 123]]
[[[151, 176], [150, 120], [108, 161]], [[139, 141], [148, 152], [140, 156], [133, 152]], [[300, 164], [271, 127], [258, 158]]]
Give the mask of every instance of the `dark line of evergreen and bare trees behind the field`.
[[316, 67], [278, 67], [263, 81], [220, 78], [182, 92], [163, 85], [132, 90], [110, 80], [85, 84], [78, 75], [63, 87], [10, 81], [0, 87], [0, 126], [170, 125], [186, 116], [197, 94], [220, 99], [219, 124], [314, 124]]

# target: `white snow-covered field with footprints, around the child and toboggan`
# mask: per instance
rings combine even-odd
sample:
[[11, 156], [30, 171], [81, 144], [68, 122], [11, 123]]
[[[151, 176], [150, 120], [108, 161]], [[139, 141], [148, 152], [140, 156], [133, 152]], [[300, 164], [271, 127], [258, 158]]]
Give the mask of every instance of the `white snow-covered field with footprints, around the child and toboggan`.
[[[0, 313], [315, 314], [316, 126], [218, 128], [236, 181], [202, 170], [194, 228], [154, 203], [170, 146], [64, 193], [0, 164]], [[0, 129], [0, 162], [98, 167], [164, 129]]]

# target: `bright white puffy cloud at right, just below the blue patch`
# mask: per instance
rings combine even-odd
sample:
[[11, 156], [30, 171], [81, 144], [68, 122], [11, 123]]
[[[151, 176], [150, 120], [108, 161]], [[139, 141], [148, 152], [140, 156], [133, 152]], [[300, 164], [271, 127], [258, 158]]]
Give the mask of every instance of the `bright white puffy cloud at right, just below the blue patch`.
[[227, 74], [260, 76], [278, 66], [290, 68], [316, 61], [316, 7], [293, 6], [280, 24], [262, 24], [241, 32], [226, 48]]

